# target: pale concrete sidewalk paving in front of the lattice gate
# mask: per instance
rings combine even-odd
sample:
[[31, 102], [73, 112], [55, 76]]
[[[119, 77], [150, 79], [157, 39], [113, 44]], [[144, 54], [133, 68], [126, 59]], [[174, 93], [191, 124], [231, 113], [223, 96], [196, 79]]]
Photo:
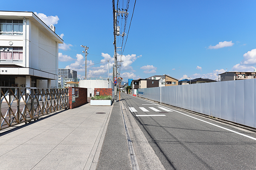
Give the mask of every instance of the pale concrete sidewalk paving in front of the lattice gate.
[[95, 170], [112, 108], [87, 103], [1, 130], [0, 169]]

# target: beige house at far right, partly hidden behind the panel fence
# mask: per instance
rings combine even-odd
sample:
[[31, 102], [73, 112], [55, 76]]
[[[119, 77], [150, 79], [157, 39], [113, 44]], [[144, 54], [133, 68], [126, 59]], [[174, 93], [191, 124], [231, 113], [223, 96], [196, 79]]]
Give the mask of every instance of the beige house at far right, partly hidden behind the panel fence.
[[254, 72], [224, 72], [219, 74], [221, 76], [222, 81], [230, 81], [230, 80], [240, 80], [240, 79], [255, 79], [256, 78], [256, 70]]

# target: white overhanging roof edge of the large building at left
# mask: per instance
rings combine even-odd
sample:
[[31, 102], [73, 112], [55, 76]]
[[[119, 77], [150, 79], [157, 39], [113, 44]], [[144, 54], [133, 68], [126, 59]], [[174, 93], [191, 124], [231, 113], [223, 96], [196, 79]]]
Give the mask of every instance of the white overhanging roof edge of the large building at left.
[[23, 20], [23, 17], [26, 19], [31, 20], [40, 28], [44, 33], [49, 35], [53, 40], [58, 43], [63, 43], [64, 41], [54, 32], [52, 31], [49, 26], [47, 26], [37, 15], [33, 12], [28, 11], [0, 11], [1, 19], [6, 20]]

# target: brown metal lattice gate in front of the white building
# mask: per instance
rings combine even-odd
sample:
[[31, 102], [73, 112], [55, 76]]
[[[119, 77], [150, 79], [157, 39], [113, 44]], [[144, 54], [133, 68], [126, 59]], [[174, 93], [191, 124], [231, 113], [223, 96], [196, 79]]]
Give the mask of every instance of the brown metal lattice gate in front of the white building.
[[68, 89], [0, 87], [0, 130], [67, 109]]

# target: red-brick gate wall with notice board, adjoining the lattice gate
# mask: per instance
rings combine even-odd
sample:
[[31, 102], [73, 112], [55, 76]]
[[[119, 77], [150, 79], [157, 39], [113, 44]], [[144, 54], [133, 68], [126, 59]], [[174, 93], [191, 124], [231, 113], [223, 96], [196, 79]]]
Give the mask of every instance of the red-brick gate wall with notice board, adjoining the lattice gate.
[[[78, 89], [78, 97], [76, 97], [75, 102], [72, 102], [72, 89], [73, 88], [75, 89], [75, 92], [76, 92], [76, 89]], [[68, 95], [69, 95], [70, 109], [77, 108], [77, 107], [87, 103], [87, 88], [69, 87]]]

